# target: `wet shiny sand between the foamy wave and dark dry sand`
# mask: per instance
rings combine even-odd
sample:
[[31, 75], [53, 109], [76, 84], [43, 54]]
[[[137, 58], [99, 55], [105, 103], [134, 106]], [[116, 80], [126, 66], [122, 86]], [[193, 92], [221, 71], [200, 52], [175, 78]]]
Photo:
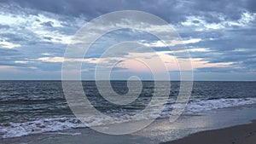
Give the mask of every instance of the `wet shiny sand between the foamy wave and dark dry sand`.
[[[50, 143], [99, 143], [99, 144], [114, 144], [114, 143], [147, 143], [147, 144], [156, 144], [162, 143], [165, 144], [180, 144], [176, 143], [179, 141], [184, 141], [188, 139], [191, 135], [198, 135], [204, 133], [205, 131], [215, 131], [229, 129], [230, 127], [236, 127], [240, 125], [250, 124], [251, 120], [256, 119], [255, 115], [256, 104], [240, 106], [240, 107], [227, 107], [223, 109], [217, 109], [209, 112], [200, 112], [196, 115], [182, 115], [175, 123], [170, 124], [169, 118], [157, 118], [154, 123], [148, 125], [148, 127], [143, 130], [139, 130], [136, 133], [129, 135], [107, 135], [96, 132], [95, 130], [90, 130], [90, 128], [77, 128], [77, 129], [68, 129], [54, 132], [45, 132], [40, 134], [33, 135], [24, 135], [20, 137], [5, 138], [0, 139], [0, 143], [9, 144], [9, 143], [41, 143], [41, 144], [50, 144]], [[253, 121], [253, 128], [256, 130], [256, 122]], [[106, 125], [108, 127], [108, 125]], [[251, 126], [252, 127], [252, 126]], [[241, 129], [241, 128], [240, 128]], [[238, 129], [238, 131], [244, 131], [244, 129]], [[231, 130], [232, 131], [232, 130]], [[230, 132], [229, 132], [230, 133]], [[250, 134], [250, 133], [249, 133]], [[254, 133], [253, 133], [254, 134]], [[255, 134], [256, 135], [256, 134]], [[210, 135], [211, 137], [212, 135]], [[220, 135], [222, 136], [222, 135]], [[196, 139], [201, 140], [201, 143], [209, 143], [213, 140], [206, 138], [205, 141], [201, 139], [201, 135], [196, 137]], [[217, 138], [216, 138], [217, 137]], [[227, 136], [224, 136], [227, 138]], [[254, 137], [254, 141], [256, 141]], [[235, 141], [236, 142], [236, 141]], [[182, 143], [198, 143], [184, 141]], [[225, 144], [227, 142], [224, 142]], [[230, 142], [228, 142], [230, 143]], [[231, 141], [232, 143], [232, 141]], [[211, 144], [211, 143], [210, 143]], [[220, 143], [221, 144], [221, 143]], [[247, 143], [244, 143], [247, 144]], [[250, 144], [250, 143], [249, 143]], [[251, 143], [253, 144], [253, 143]]]

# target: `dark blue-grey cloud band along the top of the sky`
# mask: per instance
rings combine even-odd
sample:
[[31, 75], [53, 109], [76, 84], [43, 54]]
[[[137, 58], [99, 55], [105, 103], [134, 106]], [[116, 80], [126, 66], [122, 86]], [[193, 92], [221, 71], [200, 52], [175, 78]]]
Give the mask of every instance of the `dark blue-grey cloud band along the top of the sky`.
[[[2, 3], [16, 3], [22, 8], [38, 9], [55, 14], [64, 14], [79, 17], [86, 15], [88, 19], [95, 18], [116, 10], [142, 10], [156, 14], [172, 23], [186, 20], [186, 16], [203, 16], [207, 22], [218, 23], [219, 15], [224, 15], [225, 20], [239, 20], [241, 14], [247, 9], [255, 11], [255, 1], [236, 0], [195, 0], [195, 1], [130, 1], [130, 0], [9, 0]], [[214, 12], [214, 13], [212, 13]]]

